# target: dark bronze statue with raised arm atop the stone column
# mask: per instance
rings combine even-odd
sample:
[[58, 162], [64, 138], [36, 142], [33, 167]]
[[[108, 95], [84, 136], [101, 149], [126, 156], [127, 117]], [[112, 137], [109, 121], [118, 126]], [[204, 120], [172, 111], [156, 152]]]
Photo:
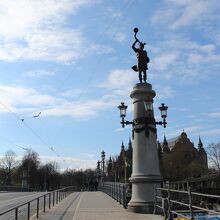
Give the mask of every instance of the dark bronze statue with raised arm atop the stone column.
[[[147, 64], [150, 62], [150, 59], [147, 56], [147, 51], [144, 50], [144, 45], [146, 43], [143, 43], [143, 42], [141, 42], [137, 39], [137, 36], [136, 36], [137, 32], [138, 32], [138, 28], [134, 28], [135, 42], [132, 45], [132, 49], [135, 51], [135, 53], [137, 55], [138, 64], [134, 65], [132, 67], [132, 69], [136, 72], [139, 72], [140, 83], [142, 83], [142, 80], [146, 83], [146, 81], [147, 81], [147, 69], [148, 69]], [[139, 43], [138, 48], [135, 47], [136, 43]], [[143, 77], [142, 77], [142, 72], [143, 72]]]

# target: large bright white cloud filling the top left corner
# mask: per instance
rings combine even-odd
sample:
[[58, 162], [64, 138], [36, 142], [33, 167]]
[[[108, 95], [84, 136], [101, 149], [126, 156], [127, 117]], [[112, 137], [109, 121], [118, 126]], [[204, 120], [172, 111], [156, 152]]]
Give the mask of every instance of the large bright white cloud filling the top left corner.
[[80, 30], [65, 27], [68, 15], [91, 0], [3, 0], [0, 2], [0, 60], [71, 62], [82, 57]]

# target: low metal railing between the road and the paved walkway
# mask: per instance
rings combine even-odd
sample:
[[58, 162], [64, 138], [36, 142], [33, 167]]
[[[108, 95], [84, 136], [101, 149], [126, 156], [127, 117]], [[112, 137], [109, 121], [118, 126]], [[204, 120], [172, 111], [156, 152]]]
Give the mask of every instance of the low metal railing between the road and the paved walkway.
[[[6, 218], [9, 219], [9, 217], [7, 216], [9, 214], [10, 214], [10, 219], [15, 219], [15, 220], [18, 220], [19, 215], [25, 215], [25, 217], [23, 217], [22, 219], [27, 219], [27, 220], [30, 220], [30, 218], [34, 215], [36, 215], [36, 217], [39, 218], [40, 211], [46, 212], [47, 206], [50, 209], [52, 206], [55, 206], [55, 204], [58, 204], [61, 200], [66, 198], [73, 191], [74, 191], [74, 187], [69, 186], [59, 190], [45, 193], [44, 195], [41, 195], [37, 198], [29, 200], [20, 205], [17, 205], [16, 207], [1, 212], [0, 218], [4, 217], [4, 219]], [[40, 202], [42, 202], [43, 204], [41, 205]], [[31, 206], [34, 207], [35, 213], [33, 213], [33, 210], [31, 210]]]

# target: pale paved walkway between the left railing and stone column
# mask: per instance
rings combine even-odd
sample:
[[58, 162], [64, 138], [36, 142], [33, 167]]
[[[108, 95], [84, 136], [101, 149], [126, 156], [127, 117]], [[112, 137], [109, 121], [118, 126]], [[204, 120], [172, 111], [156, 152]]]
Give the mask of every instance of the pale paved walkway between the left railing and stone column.
[[[102, 192], [75, 192], [40, 213], [42, 220], [162, 220], [162, 216], [131, 213]], [[37, 220], [36, 217], [32, 220]]]

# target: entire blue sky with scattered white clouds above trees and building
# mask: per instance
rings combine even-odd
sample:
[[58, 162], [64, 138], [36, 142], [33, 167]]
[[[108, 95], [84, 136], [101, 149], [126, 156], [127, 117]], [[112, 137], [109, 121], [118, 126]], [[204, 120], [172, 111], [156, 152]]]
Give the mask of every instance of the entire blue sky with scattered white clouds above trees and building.
[[205, 147], [218, 142], [219, 12], [218, 0], [0, 1], [0, 155], [32, 148], [78, 169], [127, 145], [117, 106], [132, 119], [134, 27], [151, 59], [157, 120], [169, 106], [158, 139], [184, 129], [195, 145], [199, 135]]

